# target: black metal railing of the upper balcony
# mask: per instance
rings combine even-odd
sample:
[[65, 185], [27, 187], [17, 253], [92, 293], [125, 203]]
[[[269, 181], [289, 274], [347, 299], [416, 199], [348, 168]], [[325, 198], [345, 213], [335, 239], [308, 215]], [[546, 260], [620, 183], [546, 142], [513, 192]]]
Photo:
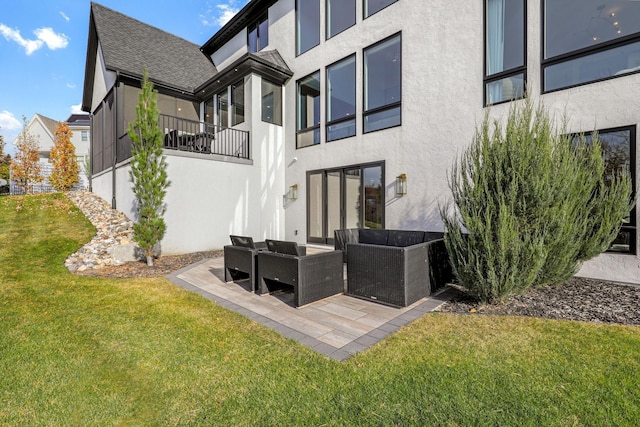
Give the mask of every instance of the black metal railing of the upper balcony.
[[164, 148], [250, 159], [249, 132], [160, 114]]

